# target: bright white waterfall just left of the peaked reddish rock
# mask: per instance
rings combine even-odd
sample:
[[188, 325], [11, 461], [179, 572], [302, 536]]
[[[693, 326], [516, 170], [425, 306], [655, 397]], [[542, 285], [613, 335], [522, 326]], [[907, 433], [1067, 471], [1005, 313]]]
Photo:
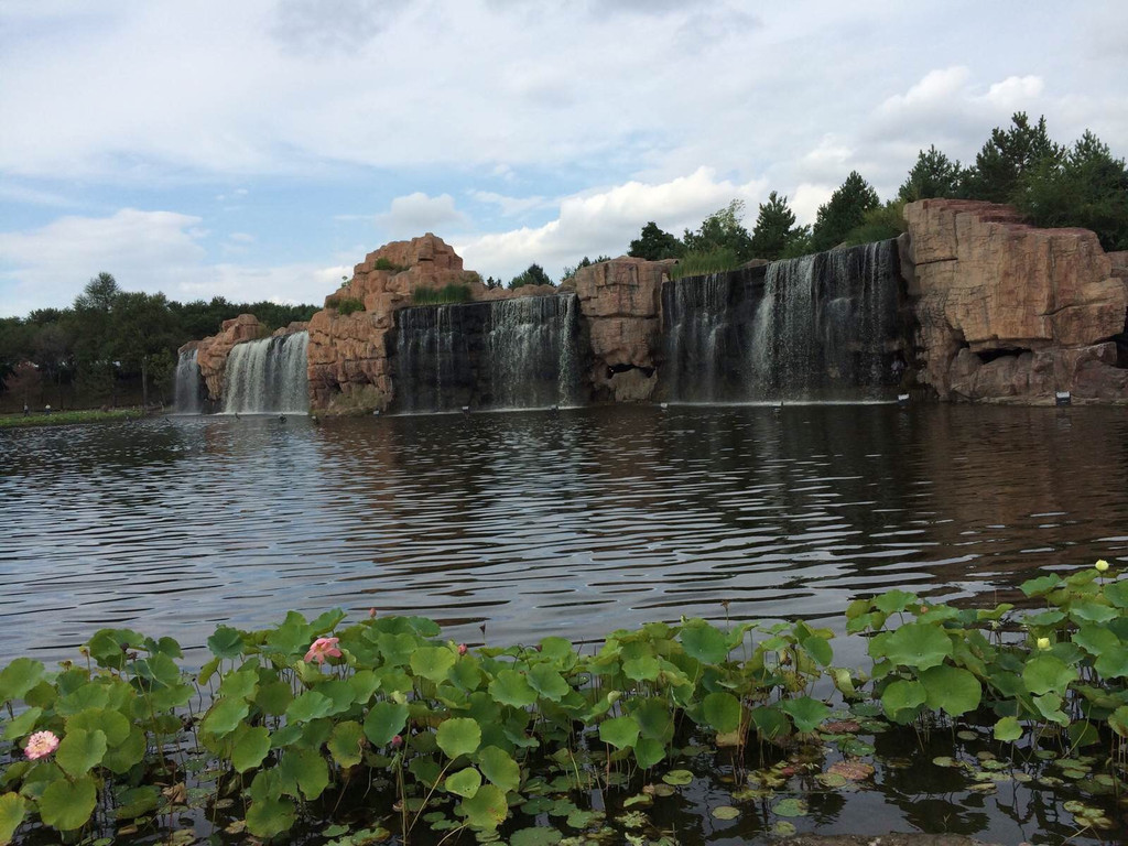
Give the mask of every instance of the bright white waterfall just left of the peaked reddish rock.
[[236, 344], [223, 373], [223, 413], [307, 413], [308, 344], [308, 332]]

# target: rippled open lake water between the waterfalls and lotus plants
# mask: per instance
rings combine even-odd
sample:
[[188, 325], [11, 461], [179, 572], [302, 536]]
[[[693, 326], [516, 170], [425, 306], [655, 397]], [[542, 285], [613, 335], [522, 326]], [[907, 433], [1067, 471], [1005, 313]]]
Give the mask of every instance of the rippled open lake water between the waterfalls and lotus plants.
[[200, 645], [285, 609], [574, 640], [650, 619], [1013, 598], [1128, 556], [1105, 408], [175, 417], [0, 434], [0, 661], [106, 625]]

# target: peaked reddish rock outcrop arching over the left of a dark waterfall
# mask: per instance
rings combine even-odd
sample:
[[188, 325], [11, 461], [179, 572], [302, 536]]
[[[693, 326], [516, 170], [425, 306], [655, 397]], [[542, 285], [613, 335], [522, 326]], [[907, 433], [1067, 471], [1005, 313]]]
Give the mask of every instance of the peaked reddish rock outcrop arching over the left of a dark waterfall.
[[[412, 305], [415, 290], [451, 284], [467, 285], [473, 299], [486, 292], [478, 274], [465, 272], [453, 248], [430, 232], [369, 253], [309, 321], [310, 407], [386, 409], [393, 398], [388, 335], [395, 311]], [[342, 308], [358, 305], [363, 308], [351, 314]]]

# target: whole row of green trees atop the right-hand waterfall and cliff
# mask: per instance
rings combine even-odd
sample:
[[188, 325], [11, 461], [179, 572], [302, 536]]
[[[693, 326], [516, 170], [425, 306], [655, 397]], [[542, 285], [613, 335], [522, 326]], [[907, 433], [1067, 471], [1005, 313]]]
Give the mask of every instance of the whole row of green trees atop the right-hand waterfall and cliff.
[[742, 222], [743, 202], [733, 200], [680, 238], [647, 222], [627, 255], [677, 258], [702, 272], [737, 267], [751, 258], [793, 258], [897, 237], [905, 229], [905, 203], [929, 197], [1011, 203], [1036, 226], [1092, 229], [1104, 249], [1128, 249], [1125, 160], [1089, 131], [1073, 146], [1058, 144], [1049, 138], [1045, 117], [1032, 123], [1019, 112], [1010, 126], [992, 131], [968, 166], [935, 146], [920, 150], [897, 196], [884, 203], [854, 170], [819, 206], [813, 226], [796, 226], [787, 197], [773, 191], [759, 204], [751, 231]]

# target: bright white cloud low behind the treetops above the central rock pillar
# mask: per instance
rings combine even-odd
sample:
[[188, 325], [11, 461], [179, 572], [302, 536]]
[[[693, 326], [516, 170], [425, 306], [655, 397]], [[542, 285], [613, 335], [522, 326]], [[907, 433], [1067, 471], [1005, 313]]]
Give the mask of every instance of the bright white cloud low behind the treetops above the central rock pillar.
[[482, 273], [509, 277], [537, 262], [555, 276], [584, 255], [622, 255], [647, 221], [680, 236], [733, 199], [748, 204], [751, 226], [766, 191], [764, 180], [735, 184], [702, 167], [666, 183], [628, 182], [565, 197], [557, 217], [543, 226], [456, 239], [456, 249], [467, 267]]

